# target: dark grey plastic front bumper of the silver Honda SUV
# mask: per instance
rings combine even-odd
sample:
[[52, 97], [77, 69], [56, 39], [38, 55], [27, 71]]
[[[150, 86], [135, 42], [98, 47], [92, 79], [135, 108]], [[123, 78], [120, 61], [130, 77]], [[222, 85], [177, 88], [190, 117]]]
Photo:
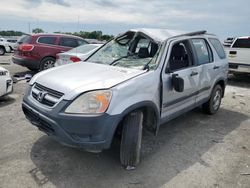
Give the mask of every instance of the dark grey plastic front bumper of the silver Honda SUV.
[[41, 131], [63, 145], [87, 151], [101, 151], [110, 147], [119, 115], [66, 114], [64, 110], [71, 101], [62, 100], [53, 109], [48, 109], [40, 106], [28, 93], [22, 103], [23, 112]]

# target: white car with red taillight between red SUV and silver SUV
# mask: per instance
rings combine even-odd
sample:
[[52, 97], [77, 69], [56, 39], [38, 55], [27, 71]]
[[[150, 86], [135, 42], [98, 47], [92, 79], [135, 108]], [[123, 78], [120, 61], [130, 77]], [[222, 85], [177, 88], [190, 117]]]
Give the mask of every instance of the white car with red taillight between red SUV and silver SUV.
[[73, 48], [67, 52], [57, 54], [55, 66], [66, 65], [86, 60], [103, 44], [86, 44]]

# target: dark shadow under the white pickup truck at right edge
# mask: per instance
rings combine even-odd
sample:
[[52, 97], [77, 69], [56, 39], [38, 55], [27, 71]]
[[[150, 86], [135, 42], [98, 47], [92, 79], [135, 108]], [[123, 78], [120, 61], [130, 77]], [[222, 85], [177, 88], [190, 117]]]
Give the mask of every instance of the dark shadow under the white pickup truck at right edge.
[[237, 76], [229, 75], [228, 85], [250, 88], [250, 75], [247, 74], [242, 74]]

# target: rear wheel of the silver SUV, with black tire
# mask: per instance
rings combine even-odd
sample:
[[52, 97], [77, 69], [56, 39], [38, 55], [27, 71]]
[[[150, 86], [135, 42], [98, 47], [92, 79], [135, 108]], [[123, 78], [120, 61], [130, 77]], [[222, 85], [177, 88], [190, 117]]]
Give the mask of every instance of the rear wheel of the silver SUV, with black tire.
[[209, 101], [202, 105], [203, 111], [207, 114], [215, 114], [221, 104], [222, 99], [222, 88], [220, 85], [216, 85], [212, 91]]

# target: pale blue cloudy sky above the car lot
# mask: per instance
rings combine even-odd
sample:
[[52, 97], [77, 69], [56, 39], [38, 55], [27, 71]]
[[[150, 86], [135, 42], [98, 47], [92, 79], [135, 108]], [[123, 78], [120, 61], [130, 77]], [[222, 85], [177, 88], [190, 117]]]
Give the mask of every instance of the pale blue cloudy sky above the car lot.
[[250, 35], [249, 0], [0, 0], [0, 30], [28, 33], [132, 28], [207, 30], [221, 39]]

